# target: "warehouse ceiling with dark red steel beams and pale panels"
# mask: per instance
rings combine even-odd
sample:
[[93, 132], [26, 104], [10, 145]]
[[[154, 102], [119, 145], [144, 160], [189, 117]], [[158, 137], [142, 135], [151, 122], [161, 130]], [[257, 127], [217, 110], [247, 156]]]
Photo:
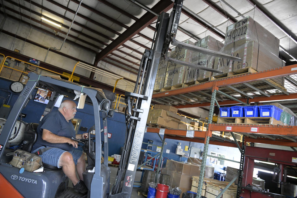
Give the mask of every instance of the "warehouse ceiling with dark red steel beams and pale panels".
[[[78, 0], [2, 0], [1, 12], [63, 39], [78, 9], [66, 41], [97, 53], [94, 66], [102, 60], [136, 73], [144, 49], [152, 45], [156, 14], [173, 7], [170, 0], [82, 0], [79, 4]], [[251, 16], [280, 39], [280, 57], [294, 61], [296, 7], [295, 0], [185, 0], [176, 39], [195, 42], [210, 35], [223, 41], [228, 25]]]

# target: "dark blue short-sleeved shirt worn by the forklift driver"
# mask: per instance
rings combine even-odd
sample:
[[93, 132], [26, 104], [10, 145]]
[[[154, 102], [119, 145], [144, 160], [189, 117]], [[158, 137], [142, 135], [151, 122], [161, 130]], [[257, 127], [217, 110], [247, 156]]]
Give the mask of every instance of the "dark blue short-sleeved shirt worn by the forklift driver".
[[57, 144], [42, 140], [43, 129], [49, 130], [50, 132], [58, 136], [64, 136], [68, 138], [75, 137], [75, 130], [73, 124], [71, 123], [71, 120], [67, 122], [67, 120], [59, 111], [51, 112], [45, 115], [39, 122], [36, 130], [38, 134], [37, 141], [33, 145], [32, 151], [38, 149], [41, 146], [56, 147], [65, 151], [71, 151], [72, 149], [74, 149], [74, 147], [72, 145], [69, 145], [68, 143]]

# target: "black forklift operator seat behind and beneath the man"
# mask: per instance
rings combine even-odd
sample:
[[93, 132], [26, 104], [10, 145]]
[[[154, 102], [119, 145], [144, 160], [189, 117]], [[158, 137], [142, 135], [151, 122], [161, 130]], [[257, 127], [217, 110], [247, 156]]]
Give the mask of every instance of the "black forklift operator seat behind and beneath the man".
[[[32, 151], [32, 147], [37, 141], [37, 123], [28, 123], [25, 128], [24, 140], [21, 149], [27, 152]], [[48, 170], [58, 170], [60, 168], [43, 163], [43, 167]]]

